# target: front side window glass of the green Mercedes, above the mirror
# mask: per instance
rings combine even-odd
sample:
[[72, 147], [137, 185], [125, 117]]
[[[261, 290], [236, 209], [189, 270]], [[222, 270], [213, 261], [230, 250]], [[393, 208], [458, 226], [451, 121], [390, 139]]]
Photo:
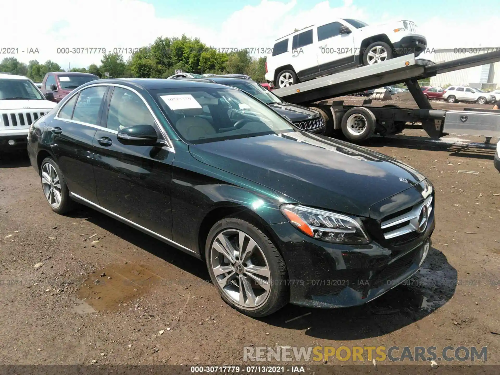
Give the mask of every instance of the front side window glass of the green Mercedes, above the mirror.
[[121, 87], [114, 87], [106, 127], [120, 130], [133, 125], [153, 125], [154, 118], [137, 94]]

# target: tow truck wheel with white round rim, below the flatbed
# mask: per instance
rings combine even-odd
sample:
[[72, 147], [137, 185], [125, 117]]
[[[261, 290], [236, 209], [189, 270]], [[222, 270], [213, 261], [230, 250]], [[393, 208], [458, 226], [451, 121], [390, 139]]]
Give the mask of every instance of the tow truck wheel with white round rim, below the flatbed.
[[376, 118], [363, 107], [350, 108], [342, 117], [342, 132], [352, 142], [368, 139], [375, 131]]

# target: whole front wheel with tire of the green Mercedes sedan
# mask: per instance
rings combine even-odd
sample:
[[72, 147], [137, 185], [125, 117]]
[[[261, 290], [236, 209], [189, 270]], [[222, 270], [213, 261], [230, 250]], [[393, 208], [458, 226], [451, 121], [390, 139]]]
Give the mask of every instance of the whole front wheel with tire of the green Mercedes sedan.
[[259, 228], [227, 217], [212, 226], [205, 243], [210, 278], [228, 305], [260, 317], [288, 302], [286, 265]]

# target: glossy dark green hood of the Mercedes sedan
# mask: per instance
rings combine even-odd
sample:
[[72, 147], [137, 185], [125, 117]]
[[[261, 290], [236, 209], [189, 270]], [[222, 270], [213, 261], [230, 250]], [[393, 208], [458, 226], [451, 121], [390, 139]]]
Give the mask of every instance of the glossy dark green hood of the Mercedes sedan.
[[425, 178], [386, 155], [301, 131], [195, 144], [189, 151], [301, 204], [366, 217], [374, 203]]

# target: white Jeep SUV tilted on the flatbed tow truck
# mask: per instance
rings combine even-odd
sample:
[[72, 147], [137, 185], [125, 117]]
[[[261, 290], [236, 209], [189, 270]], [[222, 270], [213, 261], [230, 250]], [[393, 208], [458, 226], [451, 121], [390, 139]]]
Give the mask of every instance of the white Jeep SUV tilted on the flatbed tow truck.
[[426, 45], [411, 21], [367, 25], [357, 19], [337, 18], [276, 39], [267, 57], [265, 79], [276, 88], [286, 87], [397, 55], [418, 55]]

